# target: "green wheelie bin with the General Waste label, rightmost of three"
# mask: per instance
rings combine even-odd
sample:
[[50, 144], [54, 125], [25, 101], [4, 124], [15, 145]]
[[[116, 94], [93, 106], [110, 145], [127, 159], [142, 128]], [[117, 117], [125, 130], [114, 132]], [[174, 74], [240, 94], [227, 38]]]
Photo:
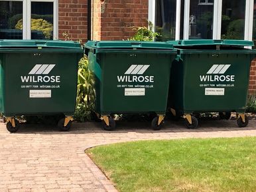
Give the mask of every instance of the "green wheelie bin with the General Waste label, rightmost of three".
[[198, 126], [197, 115], [218, 112], [221, 119], [237, 113], [237, 125], [245, 127], [249, 71], [255, 51], [244, 40], [170, 41], [177, 49], [172, 62], [168, 110], [184, 117], [186, 126]]

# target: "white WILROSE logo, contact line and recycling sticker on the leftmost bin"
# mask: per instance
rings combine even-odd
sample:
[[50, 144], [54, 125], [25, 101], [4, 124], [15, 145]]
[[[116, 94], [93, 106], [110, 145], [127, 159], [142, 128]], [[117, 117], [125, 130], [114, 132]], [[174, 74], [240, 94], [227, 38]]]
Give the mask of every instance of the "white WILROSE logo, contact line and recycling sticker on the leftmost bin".
[[60, 75], [49, 75], [54, 67], [56, 64], [36, 64], [27, 75], [21, 75], [21, 88], [28, 89], [29, 98], [51, 98], [51, 89], [60, 88]]

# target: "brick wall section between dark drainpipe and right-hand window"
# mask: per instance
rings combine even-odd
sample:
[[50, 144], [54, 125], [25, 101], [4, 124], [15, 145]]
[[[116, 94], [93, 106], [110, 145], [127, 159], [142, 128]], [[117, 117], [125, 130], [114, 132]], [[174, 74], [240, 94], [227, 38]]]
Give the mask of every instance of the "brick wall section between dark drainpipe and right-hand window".
[[95, 2], [93, 15], [96, 17], [92, 20], [93, 40], [125, 40], [133, 36], [133, 26], [147, 26], [148, 0]]

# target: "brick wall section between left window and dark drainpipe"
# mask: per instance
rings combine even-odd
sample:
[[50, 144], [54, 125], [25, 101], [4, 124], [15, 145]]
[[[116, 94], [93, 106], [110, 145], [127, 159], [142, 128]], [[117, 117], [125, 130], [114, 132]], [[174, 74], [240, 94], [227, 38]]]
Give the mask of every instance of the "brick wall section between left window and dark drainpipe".
[[58, 1], [58, 38], [62, 33], [69, 34], [72, 40], [87, 41], [87, 0]]

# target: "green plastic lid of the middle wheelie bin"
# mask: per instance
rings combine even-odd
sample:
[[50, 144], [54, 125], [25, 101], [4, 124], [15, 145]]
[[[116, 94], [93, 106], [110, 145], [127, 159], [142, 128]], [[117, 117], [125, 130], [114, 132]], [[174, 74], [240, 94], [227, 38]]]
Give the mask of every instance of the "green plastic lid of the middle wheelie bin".
[[166, 42], [136, 42], [136, 41], [88, 41], [86, 48], [95, 49], [173, 49], [171, 43]]

